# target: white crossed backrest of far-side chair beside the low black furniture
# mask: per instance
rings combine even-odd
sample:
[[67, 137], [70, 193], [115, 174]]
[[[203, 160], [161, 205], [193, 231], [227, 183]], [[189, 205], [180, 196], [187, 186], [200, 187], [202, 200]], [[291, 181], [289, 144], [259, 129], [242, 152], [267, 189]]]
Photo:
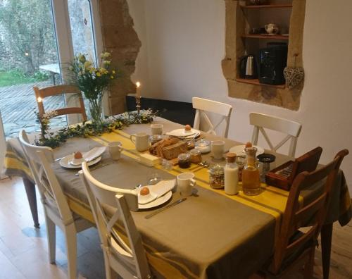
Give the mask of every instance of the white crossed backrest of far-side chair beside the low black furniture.
[[[227, 137], [229, 133], [229, 124], [232, 106], [229, 104], [220, 103], [219, 101], [212, 101], [208, 99], [202, 99], [198, 97], [192, 98], [193, 108], [196, 109], [196, 116], [194, 117], [193, 128], [198, 129], [201, 126], [201, 119], [205, 120], [207, 125], [209, 126], [208, 131], [210, 134], [216, 135], [215, 129], [219, 127], [219, 125], [225, 121], [225, 129], [222, 132], [222, 137]], [[210, 121], [210, 118], [206, 114], [206, 112], [217, 113], [221, 116], [221, 119], [215, 125]]]

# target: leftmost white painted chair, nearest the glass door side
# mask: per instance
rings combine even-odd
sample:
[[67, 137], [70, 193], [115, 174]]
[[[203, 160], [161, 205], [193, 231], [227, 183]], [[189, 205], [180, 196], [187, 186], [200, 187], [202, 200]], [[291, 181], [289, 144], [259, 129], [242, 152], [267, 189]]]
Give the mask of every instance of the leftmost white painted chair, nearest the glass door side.
[[50, 163], [54, 163], [50, 147], [37, 147], [30, 144], [25, 130], [20, 131], [20, 143], [30, 165], [34, 181], [38, 186], [44, 206], [46, 233], [49, 246], [49, 261], [56, 260], [56, 225], [63, 230], [68, 259], [68, 278], [76, 278], [77, 240], [76, 234], [93, 226], [89, 221], [73, 213], [63, 194], [61, 185]]

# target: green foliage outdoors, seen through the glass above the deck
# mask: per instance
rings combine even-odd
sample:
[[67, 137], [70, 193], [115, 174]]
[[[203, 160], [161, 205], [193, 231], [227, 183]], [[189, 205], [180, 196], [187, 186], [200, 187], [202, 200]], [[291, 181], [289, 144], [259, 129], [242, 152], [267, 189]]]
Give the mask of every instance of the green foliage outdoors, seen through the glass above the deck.
[[[39, 65], [57, 61], [50, 1], [0, 1], [0, 26], [5, 30], [2, 55], [10, 58], [0, 61], [2, 68], [15, 73], [20, 72], [16, 68], [21, 68], [25, 76], [36, 78]], [[7, 80], [25, 80], [21, 74], [11, 73], [4, 75]]]

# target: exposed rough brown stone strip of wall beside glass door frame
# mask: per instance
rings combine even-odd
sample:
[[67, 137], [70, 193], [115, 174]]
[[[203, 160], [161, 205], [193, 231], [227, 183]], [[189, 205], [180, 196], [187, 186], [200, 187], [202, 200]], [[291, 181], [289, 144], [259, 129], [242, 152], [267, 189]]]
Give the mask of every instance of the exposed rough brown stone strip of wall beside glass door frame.
[[134, 30], [127, 0], [101, 0], [100, 9], [103, 46], [120, 71], [109, 95], [111, 114], [116, 114], [125, 111], [125, 95], [136, 91], [131, 75], [142, 43]]

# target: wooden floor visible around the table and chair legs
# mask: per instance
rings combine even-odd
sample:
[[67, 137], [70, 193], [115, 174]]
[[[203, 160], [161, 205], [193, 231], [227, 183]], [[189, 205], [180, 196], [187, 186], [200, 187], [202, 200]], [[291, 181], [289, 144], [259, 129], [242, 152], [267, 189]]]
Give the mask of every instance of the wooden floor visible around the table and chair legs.
[[[65, 240], [56, 230], [56, 265], [49, 263], [42, 206], [41, 228], [34, 229], [27, 196], [19, 178], [0, 180], [0, 279], [67, 278]], [[77, 237], [79, 278], [105, 278], [103, 254], [95, 228]], [[322, 278], [321, 254], [316, 252], [314, 278]], [[301, 278], [299, 273], [287, 278]], [[330, 278], [352, 278], [352, 223], [334, 226]]]

